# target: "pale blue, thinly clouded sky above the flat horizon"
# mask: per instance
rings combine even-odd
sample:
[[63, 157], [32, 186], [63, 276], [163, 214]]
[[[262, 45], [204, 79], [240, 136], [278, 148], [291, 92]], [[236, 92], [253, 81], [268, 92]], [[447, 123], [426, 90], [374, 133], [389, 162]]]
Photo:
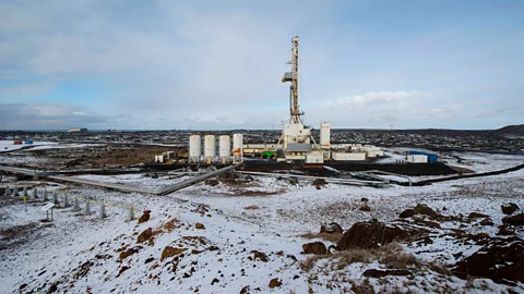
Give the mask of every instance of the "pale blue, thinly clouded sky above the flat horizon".
[[524, 123], [524, 1], [0, 1], [0, 128]]

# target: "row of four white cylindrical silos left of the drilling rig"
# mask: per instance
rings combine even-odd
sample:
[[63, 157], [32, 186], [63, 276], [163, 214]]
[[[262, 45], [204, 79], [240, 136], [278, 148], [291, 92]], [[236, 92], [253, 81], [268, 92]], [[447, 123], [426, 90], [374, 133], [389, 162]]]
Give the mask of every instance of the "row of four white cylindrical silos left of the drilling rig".
[[[241, 162], [243, 156], [243, 136], [242, 134], [233, 135], [233, 161]], [[189, 137], [189, 162], [198, 163], [202, 160], [202, 138], [200, 135], [191, 135]], [[214, 163], [216, 159], [216, 137], [215, 135], [204, 136], [204, 155], [203, 162]], [[227, 135], [218, 137], [218, 161], [228, 163], [231, 161], [231, 139]]]

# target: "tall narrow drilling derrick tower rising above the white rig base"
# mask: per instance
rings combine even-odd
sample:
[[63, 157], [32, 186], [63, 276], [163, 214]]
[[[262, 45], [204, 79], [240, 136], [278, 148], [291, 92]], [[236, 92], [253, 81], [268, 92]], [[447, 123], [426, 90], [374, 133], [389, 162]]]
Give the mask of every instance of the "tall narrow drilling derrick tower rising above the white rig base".
[[301, 121], [300, 115], [303, 114], [300, 112], [300, 106], [298, 105], [298, 36], [291, 39], [291, 60], [287, 63], [291, 65], [291, 71], [284, 73], [282, 83], [291, 83], [289, 86], [289, 110], [291, 114], [289, 123], [298, 124]]

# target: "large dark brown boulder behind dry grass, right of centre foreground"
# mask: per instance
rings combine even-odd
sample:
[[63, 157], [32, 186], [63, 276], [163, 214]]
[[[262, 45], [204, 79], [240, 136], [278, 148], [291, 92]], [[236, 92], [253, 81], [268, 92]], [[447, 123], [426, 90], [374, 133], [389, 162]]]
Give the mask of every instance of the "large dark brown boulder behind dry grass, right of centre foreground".
[[336, 244], [336, 249], [378, 248], [393, 241], [420, 236], [426, 232], [424, 229], [401, 228], [396, 224], [386, 225], [373, 219], [369, 222], [355, 223], [342, 235], [341, 241]]

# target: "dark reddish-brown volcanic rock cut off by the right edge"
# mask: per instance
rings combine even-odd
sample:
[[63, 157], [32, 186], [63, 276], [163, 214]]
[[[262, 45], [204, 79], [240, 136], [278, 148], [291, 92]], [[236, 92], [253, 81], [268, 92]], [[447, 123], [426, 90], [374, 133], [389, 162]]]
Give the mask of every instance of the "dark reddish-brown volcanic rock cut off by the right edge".
[[461, 279], [488, 278], [508, 285], [524, 282], [524, 242], [516, 237], [492, 241], [456, 262], [452, 272]]

